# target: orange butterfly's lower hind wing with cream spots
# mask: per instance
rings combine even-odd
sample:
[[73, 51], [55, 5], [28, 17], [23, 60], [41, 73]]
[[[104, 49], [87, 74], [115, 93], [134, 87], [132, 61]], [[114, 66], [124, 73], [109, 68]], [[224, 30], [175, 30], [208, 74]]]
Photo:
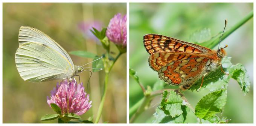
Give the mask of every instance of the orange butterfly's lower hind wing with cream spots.
[[186, 86], [194, 83], [210, 62], [208, 58], [200, 56], [157, 52], [150, 55], [149, 66], [158, 71], [159, 78], [167, 84]]

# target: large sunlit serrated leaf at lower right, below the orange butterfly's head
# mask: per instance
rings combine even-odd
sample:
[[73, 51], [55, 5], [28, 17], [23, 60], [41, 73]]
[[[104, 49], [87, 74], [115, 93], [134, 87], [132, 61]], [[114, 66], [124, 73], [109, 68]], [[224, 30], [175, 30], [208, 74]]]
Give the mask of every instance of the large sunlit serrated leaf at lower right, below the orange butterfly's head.
[[210, 120], [216, 113], [222, 112], [227, 101], [227, 90], [218, 90], [204, 96], [195, 107], [195, 115]]

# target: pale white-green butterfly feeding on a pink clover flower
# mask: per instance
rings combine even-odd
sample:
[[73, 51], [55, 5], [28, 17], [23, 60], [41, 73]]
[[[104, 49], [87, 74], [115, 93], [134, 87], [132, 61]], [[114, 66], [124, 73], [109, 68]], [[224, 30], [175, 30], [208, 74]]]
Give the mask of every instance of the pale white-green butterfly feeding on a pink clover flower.
[[69, 54], [57, 42], [36, 28], [21, 26], [18, 40], [15, 63], [25, 81], [73, 78], [84, 71], [82, 66], [73, 64]]

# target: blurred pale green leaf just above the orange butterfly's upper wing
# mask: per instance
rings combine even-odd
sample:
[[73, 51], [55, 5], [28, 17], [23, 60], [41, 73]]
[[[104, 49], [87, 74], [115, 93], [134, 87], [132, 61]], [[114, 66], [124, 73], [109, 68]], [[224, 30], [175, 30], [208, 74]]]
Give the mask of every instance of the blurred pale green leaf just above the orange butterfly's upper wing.
[[210, 40], [212, 37], [210, 28], [204, 28], [198, 31], [195, 31], [189, 36], [189, 42], [193, 43], [202, 43]]

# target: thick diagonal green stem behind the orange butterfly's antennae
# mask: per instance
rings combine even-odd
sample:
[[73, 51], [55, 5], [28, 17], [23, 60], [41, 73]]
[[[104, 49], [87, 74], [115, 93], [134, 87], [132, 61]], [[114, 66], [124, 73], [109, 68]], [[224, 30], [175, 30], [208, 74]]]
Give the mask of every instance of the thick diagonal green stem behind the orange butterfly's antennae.
[[[241, 21], [239, 21], [233, 27], [231, 27], [229, 30], [224, 32], [224, 34], [222, 36], [222, 40], [224, 40], [227, 36], [229, 36], [231, 33], [233, 33], [236, 29], [241, 27], [243, 24], [245, 24], [251, 18], [253, 18], [253, 10], [250, 13], [248, 13], [248, 15], [246, 15]], [[213, 48], [216, 45], [218, 45], [220, 37], [221, 37], [221, 34], [218, 34], [217, 36], [215, 36], [215, 39], [211, 39], [210, 41], [207, 41], [207, 43], [209, 43], [209, 45], [207, 45], [207, 47]]]

